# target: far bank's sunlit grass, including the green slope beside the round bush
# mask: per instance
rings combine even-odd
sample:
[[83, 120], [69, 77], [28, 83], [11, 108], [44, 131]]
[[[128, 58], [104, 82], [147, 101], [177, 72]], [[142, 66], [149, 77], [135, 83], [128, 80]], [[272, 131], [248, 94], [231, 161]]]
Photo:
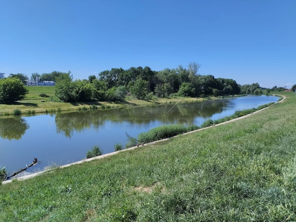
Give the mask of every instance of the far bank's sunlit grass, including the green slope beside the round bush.
[[[51, 86], [26, 86], [29, 89], [26, 100], [30, 101], [20, 101], [14, 104], [0, 104], [0, 116], [12, 115], [15, 109], [19, 109], [22, 114], [36, 114], [36, 113], [54, 113], [57, 111], [73, 111], [81, 109], [92, 108], [118, 108], [123, 106], [140, 106], [140, 105], [151, 105], [151, 104], [161, 104], [161, 103], [177, 103], [177, 102], [194, 102], [203, 101], [207, 99], [215, 98], [225, 98], [229, 96], [207, 96], [200, 98], [192, 97], [174, 97], [174, 98], [159, 98], [154, 100], [127, 100], [118, 102], [77, 102], [77, 103], [63, 103], [63, 102], [51, 102], [49, 98], [42, 98], [38, 95], [45, 93], [48, 96], [54, 96], [54, 87]], [[230, 97], [242, 96], [233, 95]], [[36, 99], [35, 101], [32, 101]], [[96, 107], [97, 106], [97, 107]]]

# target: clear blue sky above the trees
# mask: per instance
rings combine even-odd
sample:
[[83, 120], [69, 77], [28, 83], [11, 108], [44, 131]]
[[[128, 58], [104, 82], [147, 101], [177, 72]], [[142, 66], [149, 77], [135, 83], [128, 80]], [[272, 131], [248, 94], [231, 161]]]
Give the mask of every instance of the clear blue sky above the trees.
[[296, 1], [1, 1], [0, 73], [201, 64], [200, 74], [295, 84]]

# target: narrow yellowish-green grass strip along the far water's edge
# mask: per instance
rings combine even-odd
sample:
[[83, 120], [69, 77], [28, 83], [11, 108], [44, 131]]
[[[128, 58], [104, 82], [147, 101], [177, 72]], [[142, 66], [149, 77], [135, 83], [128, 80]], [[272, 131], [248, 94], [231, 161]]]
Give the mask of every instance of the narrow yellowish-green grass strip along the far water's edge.
[[196, 102], [208, 99], [229, 98], [244, 95], [231, 96], [207, 96], [207, 97], [173, 97], [173, 98], [159, 98], [155, 100], [127, 100], [117, 102], [79, 102], [79, 103], [63, 103], [51, 102], [48, 99], [34, 100], [34, 101], [20, 101], [15, 104], [0, 104], [0, 116], [13, 115], [15, 110], [20, 110], [21, 114], [36, 114], [36, 113], [54, 113], [62, 111], [87, 110], [96, 108], [120, 108], [126, 106], [143, 106], [152, 104], [164, 103], [179, 103], [179, 102]]

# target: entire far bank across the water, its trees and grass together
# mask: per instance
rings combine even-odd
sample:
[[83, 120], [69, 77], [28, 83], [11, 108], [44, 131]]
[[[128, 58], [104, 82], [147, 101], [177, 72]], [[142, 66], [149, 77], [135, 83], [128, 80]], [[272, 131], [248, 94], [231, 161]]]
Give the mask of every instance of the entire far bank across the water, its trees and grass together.
[[[88, 79], [73, 79], [71, 72], [32, 73], [31, 80], [53, 81], [55, 86], [25, 86], [28, 76], [11, 73], [0, 80], [0, 115], [54, 113], [225, 98], [224, 95], [263, 93], [258, 83], [240, 85], [233, 79], [200, 75], [200, 64], [186, 68], [151, 70], [148, 66], [112, 68]], [[31, 83], [30, 83], [31, 84]], [[35, 83], [32, 83], [35, 84]], [[37, 83], [36, 83], [37, 84]], [[268, 92], [266, 92], [268, 94]], [[17, 102], [17, 103], [15, 103]]]

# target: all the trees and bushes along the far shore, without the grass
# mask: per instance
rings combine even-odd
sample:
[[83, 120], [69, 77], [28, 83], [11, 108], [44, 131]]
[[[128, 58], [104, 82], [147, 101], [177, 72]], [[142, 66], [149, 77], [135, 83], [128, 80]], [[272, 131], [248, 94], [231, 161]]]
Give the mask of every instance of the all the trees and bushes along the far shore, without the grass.
[[[151, 100], [169, 96], [203, 97], [230, 94], [261, 94], [270, 91], [284, 91], [285, 88], [261, 88], [258, 83], [240, 85], [233, 79], [215, 78], [213, 75], [200, 75], [200, 64], [189, 63], [187, 68], [166, 68], [151, 70], [148, 66], [129, 69], [112, 68], [90, 75], [88, 79], [73, 80], [71, 72], [32, 73], [31, 79], [38, 76], [40, 81], [56, 81], [55, 96], [51, 101], [123, 101], [132, 98]], [[13, 81], [12, 81], [13, 79]], [[17, 73], [0, 80], [0, 103], [12, 103], [25, 97], [28, 91], [14, 92], [12, 84], [25, 84], [28, 76]], [[16, 82], [18, 81], [19, 82]], [[295, 88], [295, 85], [293, 86]], [[14, 98], [14, 95], [15, 96]]]

